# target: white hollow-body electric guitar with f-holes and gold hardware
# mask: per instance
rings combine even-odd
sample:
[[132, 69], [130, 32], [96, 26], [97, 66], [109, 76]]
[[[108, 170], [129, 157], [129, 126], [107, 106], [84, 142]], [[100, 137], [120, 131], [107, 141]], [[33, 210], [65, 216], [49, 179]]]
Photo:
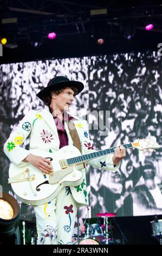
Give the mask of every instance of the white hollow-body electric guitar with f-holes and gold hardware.
[[[160, 148], [155, 137], [137, 139], [133, 143], [124, 144], [125, 149], [154, 150]], [[82, 169], [88, 160], [114, 153], [114, 149], [99, 150], [94, 153], [81, 155], [73, 146], [61, 148], [56, 153], [30, 150], [34, 155], [47, 157], [51, 160], [53, 172], [43, 174], [40, 169], [27, 163], [18, 167], [11, 163], [9, 168], [9, 184], [18, 199], [28, 205], [41, 205], [54, 199], [63, 187], [79, 186], [83, 182]], [[70, 158], [69, 158], [70, 156]]]

